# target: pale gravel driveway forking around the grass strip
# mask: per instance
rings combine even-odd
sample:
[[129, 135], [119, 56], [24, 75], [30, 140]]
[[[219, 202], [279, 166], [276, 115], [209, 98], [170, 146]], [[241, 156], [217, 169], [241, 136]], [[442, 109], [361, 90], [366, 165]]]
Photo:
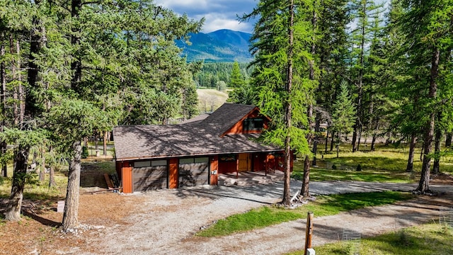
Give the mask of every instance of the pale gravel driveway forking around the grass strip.
[[[301, 187], [292, 181], [292, 193]], [[431, 186], [435, 191], [453, 192], [452, 186]], [[311, 182], [313, 194], [410, 191], [415, 185], [361, 182]], [[297, 220], [226, 237], [195, 237], [200, 227], [215, 220], [244, 212], [261, 205], [277, 203], [282, 196], [282, 183], [241, 186], [207, 186], [134, 193], [140, 201], [128, 205], [129, 213], [122, 224], [97, 227], [85, 238], [85, 246], [59, 250], [58, 254], [284, 254], [303, 249], [306, 222]], [[112, 202], [114, 203], [114, 202]], [[336, 242], [343, 229], [362, 236], [428, 222], [440, 209], [451, 208], [452, 196], [419, 197], [397, 205], [386, 205], [318, 217], [314, 221], [313, 244]], [[123, 209], [123, 208], [122, 208]], [[121, 209], [121, 210], [122, 210]], [[316, 217], [316, 215], [315, 215]]]

